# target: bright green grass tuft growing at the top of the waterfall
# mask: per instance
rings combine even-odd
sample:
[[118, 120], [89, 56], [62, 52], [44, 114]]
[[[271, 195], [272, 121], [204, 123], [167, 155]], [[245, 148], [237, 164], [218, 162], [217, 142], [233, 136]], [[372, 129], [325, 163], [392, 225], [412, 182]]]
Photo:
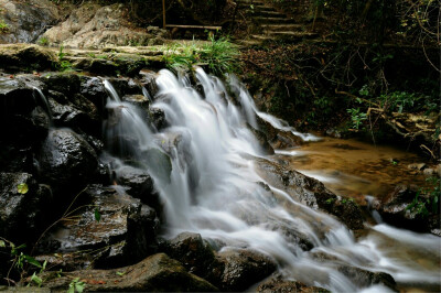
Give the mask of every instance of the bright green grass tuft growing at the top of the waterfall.
[[192, 70], [193, 66], [206, 66], [215, 75], [224, 75], [240, 69], [237, 46], [227, 39], [209, 37], [208, 43], [191, 42], [190, 44], [172, 44], [163, 48], [163, 61], [171, 69]]

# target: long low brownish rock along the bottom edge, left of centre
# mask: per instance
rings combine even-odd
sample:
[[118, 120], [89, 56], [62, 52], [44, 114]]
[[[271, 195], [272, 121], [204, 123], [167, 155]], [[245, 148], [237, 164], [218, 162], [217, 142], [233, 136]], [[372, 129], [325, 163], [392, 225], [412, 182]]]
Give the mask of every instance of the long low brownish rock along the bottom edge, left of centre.
[[215, 286], [191, 274], [175, 260], [158, 253], [143, 261], [114, 270], [83, 270], [56, 278], [46, 273], [45, 286], [51, 290], [67, 290], [73, 279], [85, 280], [85, 291], [123, 292], [213, 292]]

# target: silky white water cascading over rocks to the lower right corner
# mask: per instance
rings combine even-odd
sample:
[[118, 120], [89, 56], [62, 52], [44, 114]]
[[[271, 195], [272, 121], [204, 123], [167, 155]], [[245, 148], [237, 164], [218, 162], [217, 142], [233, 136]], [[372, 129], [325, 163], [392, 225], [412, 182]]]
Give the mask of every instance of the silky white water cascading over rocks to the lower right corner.
[[[297, 203], [275, 186], [266, 189], [258, 184], [265, 180], [256, 172], [256, 160], [266, 156], [247, 127], [257, 126], [256, 116], [304, 140], [319, 138], [299, 133], [283, 121], [259, 112], [234, 78], [229, 87], [236, 100], [218, 78], [201, 68], [196, 69], [196, 77], [202, 94], [185, 77], [176, 78], [168, 70], [158, 74], [159, 93], [153, 97], [153, 107], [165, 112], [169, 124], [160, 132], [142, 119], [139, 109], [122, 102], [105, 82], [112, 97], [107, 104], [112, 112], [106, 122], [108, 144], [135, 156], [138, 167], [152, 174], [164, 202], [166, 237], [191, 231], [224, 243], [222, 249], [255, 249], [273, 258], [288, 279], [336, 292], [388, 292], [379, 285], [363, 287], [342, 274], [338, 265], [388, 272], [407, 287], [439, 290], [438, 237], [377, 225], [356, 240], [335, 218]], [[148, 154], [152, 151], [166, 152], [171, 170], [165, 162], [150, 164]], [[284, 152], [286, 155], [295, 150]], [[123, 165], [123, 160], [119, 163]], [[283, 229], [302, 234], [313, 243], [313, 250], [306, 252], [290, 242]], [[417, 256], [412, 251], [418, 251]], [[313, 257], [319, 252], [332, 258], [319, 262]]]

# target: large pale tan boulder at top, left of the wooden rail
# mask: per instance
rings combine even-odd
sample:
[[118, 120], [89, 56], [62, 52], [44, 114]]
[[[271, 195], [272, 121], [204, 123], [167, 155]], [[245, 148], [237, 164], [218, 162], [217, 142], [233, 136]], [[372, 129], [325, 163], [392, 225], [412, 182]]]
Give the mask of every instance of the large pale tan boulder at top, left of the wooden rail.
[[128, 8], [122, 4], [98, 7], [85, 4], [43, 37], [51, 45], [71, 47], [105, 47], [162, 44], [166, 32], [158, 28], [133, 29], [127, 21]]

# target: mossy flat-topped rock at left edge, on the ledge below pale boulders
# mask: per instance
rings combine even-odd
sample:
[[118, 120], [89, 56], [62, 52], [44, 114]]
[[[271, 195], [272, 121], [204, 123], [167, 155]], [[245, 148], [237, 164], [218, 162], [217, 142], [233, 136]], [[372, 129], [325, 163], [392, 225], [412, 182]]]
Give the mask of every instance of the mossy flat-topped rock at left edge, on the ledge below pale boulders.
[[55, 53], [36, 45], [0, 45], [0, 68], [8, 72], [22, 72], [23, 68], [43, 70], [52, 68]]

